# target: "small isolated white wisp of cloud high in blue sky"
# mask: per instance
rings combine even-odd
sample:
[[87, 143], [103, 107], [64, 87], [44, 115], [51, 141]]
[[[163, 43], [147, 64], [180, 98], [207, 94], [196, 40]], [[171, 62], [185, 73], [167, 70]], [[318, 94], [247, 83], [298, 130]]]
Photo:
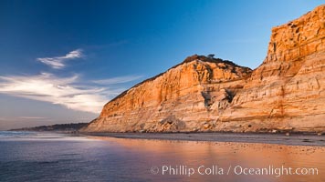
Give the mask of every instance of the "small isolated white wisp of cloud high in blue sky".
[[69, 52], [66, 56], [42, 57], [37, 58], [37, 60], [46, 64], [47, 66], [51, 66], [52, 68], [60, 69], [66, 66], [64, 63], [65, 61], [70, 59], [77, 59], [80, 57], [82, 57], [82, 50], [77, 49]]

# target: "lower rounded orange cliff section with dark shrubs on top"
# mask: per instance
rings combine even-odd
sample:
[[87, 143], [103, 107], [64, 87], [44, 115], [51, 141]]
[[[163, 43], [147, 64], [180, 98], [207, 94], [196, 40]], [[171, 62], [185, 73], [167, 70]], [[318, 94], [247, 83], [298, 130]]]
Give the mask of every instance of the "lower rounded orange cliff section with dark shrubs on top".
[[250, 73], [221, 59], [187, 57], [110, 101], [87, 131], [199, 130], [229, 106]]

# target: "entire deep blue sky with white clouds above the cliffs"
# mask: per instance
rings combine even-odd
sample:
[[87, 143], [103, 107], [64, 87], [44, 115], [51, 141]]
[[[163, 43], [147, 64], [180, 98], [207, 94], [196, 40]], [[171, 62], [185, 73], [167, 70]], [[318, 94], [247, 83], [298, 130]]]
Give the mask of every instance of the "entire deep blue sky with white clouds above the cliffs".
[[0, 1], [0, 130], [89, 122], [187, 56], [256, 68], [320, 0]]

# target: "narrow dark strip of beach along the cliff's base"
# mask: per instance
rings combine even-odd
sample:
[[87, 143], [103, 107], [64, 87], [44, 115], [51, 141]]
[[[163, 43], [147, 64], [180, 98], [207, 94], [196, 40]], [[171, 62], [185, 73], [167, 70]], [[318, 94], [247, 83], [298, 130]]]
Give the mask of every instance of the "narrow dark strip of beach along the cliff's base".
[[311, 134], [261, 134], [261, 133], [79, 133], [84, 136], [107, 136], [129, 139], [183, 140], [205, 142], [235, 142], [278, 144], [286, 146], [325, 147], [325, 136]]

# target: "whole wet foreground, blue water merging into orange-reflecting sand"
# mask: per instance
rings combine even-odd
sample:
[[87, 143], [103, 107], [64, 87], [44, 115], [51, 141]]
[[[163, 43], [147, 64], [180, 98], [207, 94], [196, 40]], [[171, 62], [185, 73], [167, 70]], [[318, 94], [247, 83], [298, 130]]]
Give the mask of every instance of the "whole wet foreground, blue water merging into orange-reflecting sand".
[[0, 181], [325, 181], [325, 147], [0, 132]]

